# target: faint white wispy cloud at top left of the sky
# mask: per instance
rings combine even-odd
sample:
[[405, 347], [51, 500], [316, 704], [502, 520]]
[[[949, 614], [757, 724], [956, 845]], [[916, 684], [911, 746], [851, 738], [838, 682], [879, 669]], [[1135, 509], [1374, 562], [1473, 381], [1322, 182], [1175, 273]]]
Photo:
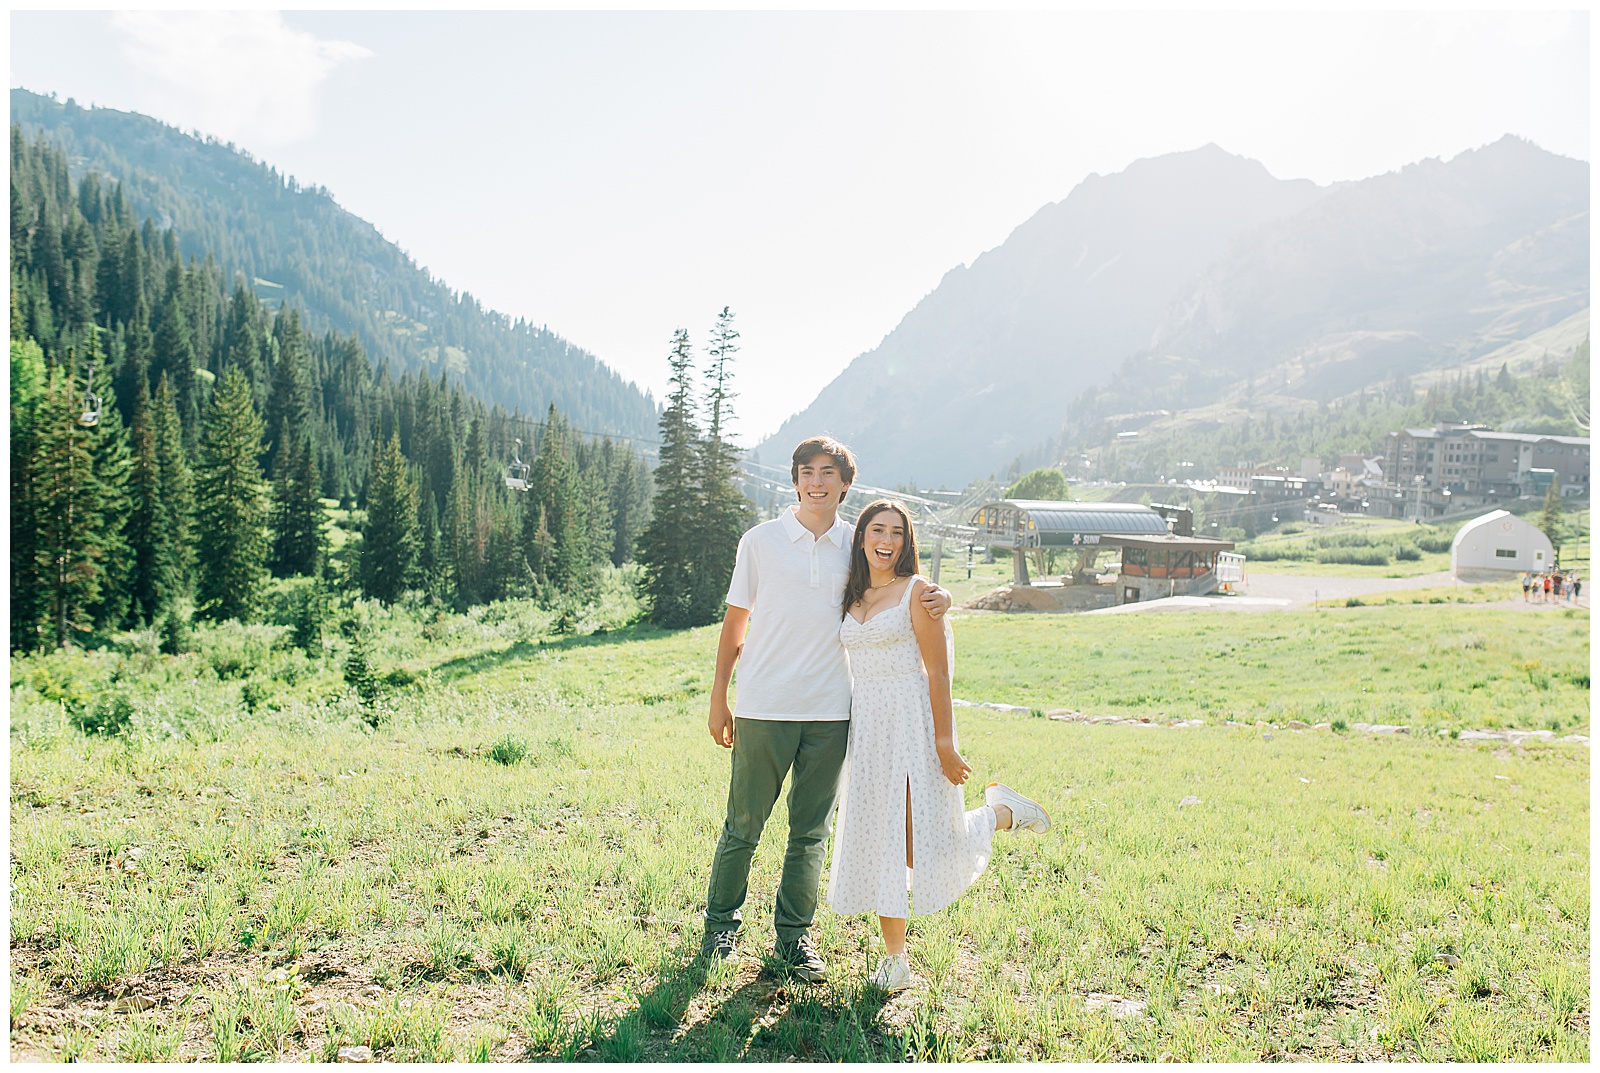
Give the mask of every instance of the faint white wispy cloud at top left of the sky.
[[117, 11], [122, 51], [182, 128], [251, 146], [285, 146], [317, 126], [317, 86], [334, 67], [371, 56], [322, 40], [278, 11]]

